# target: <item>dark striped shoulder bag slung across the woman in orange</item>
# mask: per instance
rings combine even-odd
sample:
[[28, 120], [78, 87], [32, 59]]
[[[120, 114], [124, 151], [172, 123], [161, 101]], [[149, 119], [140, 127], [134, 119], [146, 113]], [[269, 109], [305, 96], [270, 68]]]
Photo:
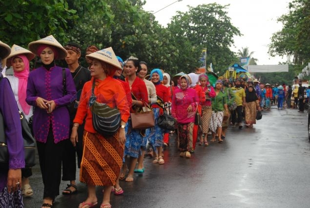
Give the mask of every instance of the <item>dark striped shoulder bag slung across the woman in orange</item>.
[[91, 97], [89, 98], [89, 106], [93, 117], [94, 129], [103, 135], [109, 137], [114, 135], [121, 124], [121, 113], [116, 108], [111, 108], [107, 104], [96, 101], [94, 95], [95, 79], [93, 81]]

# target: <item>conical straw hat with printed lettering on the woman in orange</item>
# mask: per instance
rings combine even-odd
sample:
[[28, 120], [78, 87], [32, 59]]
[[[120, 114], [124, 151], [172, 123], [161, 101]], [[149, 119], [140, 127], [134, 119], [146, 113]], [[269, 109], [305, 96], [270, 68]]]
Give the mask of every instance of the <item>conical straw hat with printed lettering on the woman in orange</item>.
[[93, 58], [98, 59], [100, 61], [103, 61], [105, 63], [108, 63], [112, 66], [115, 66], [117, 69], [123, 70], [121, 67], [119, 61], [116, 58], [116, 55], [112, 49], [112, 47], [104, 48], [100, 51], [96, 51], [94, 53], [91, 53], [89, 55], [86, 55], [87, 58]]

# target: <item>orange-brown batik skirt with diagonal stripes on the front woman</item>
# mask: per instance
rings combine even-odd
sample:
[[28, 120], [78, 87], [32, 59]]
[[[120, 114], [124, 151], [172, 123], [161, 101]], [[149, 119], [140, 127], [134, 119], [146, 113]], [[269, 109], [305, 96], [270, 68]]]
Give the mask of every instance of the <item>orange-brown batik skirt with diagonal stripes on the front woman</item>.
[[88, 185], [114, 186], [123, 165], [124, 144], [118, 132], [110, 138], [84, 131], [80, 181]]

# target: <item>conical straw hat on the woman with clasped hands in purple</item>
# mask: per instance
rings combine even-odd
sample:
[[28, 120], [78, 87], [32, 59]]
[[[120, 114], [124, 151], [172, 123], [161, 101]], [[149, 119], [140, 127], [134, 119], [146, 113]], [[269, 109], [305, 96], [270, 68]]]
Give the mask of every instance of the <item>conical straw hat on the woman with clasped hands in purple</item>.
[[56, 49], [58, 50], [58, 57], [56, 59], [64, 59], [67, 56], [67, 50], [64, 49], [62, 45], [52, 35], [42, 38], [38, 41], [30, 42], [28, 44], [28, 48], [32, 53], [36, 54], [37, 56], [40, 56], [40, 54], [37, 53], [38, 53], [38, 47], [41, 44], [52, 45], [56, 47]]

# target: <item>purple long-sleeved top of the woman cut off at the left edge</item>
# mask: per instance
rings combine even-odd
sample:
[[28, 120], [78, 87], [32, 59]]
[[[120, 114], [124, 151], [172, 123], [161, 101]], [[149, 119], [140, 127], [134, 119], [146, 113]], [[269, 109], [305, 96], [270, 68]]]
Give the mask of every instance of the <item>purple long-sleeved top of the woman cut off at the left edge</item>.
[[[0, 76], [2, 78], [1, 74]], [[19, 109], [10, 83], [5, 78], [2, 78], [0, 81], [0, 111], [5, 123], [5, 136], [9, 152], [9, 169], [25, 167]], [[0, 169], [0, 192], [7, 184], [7, 173], [8, 169]]]

